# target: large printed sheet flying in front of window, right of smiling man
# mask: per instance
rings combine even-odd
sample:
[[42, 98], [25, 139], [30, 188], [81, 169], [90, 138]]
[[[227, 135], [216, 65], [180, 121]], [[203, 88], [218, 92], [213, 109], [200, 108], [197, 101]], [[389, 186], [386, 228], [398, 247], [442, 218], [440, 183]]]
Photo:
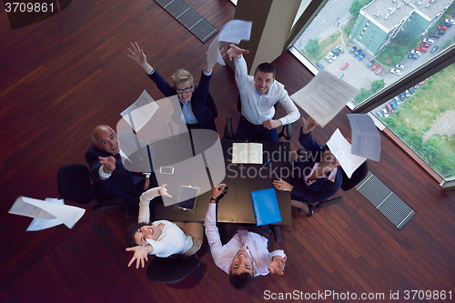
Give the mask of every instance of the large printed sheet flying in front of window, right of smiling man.
[[307, 86], [304, 86], [290, 98], [324, 127], [351, 98], [359, 95], [359, 89], [325, 70], [319, 71]]

